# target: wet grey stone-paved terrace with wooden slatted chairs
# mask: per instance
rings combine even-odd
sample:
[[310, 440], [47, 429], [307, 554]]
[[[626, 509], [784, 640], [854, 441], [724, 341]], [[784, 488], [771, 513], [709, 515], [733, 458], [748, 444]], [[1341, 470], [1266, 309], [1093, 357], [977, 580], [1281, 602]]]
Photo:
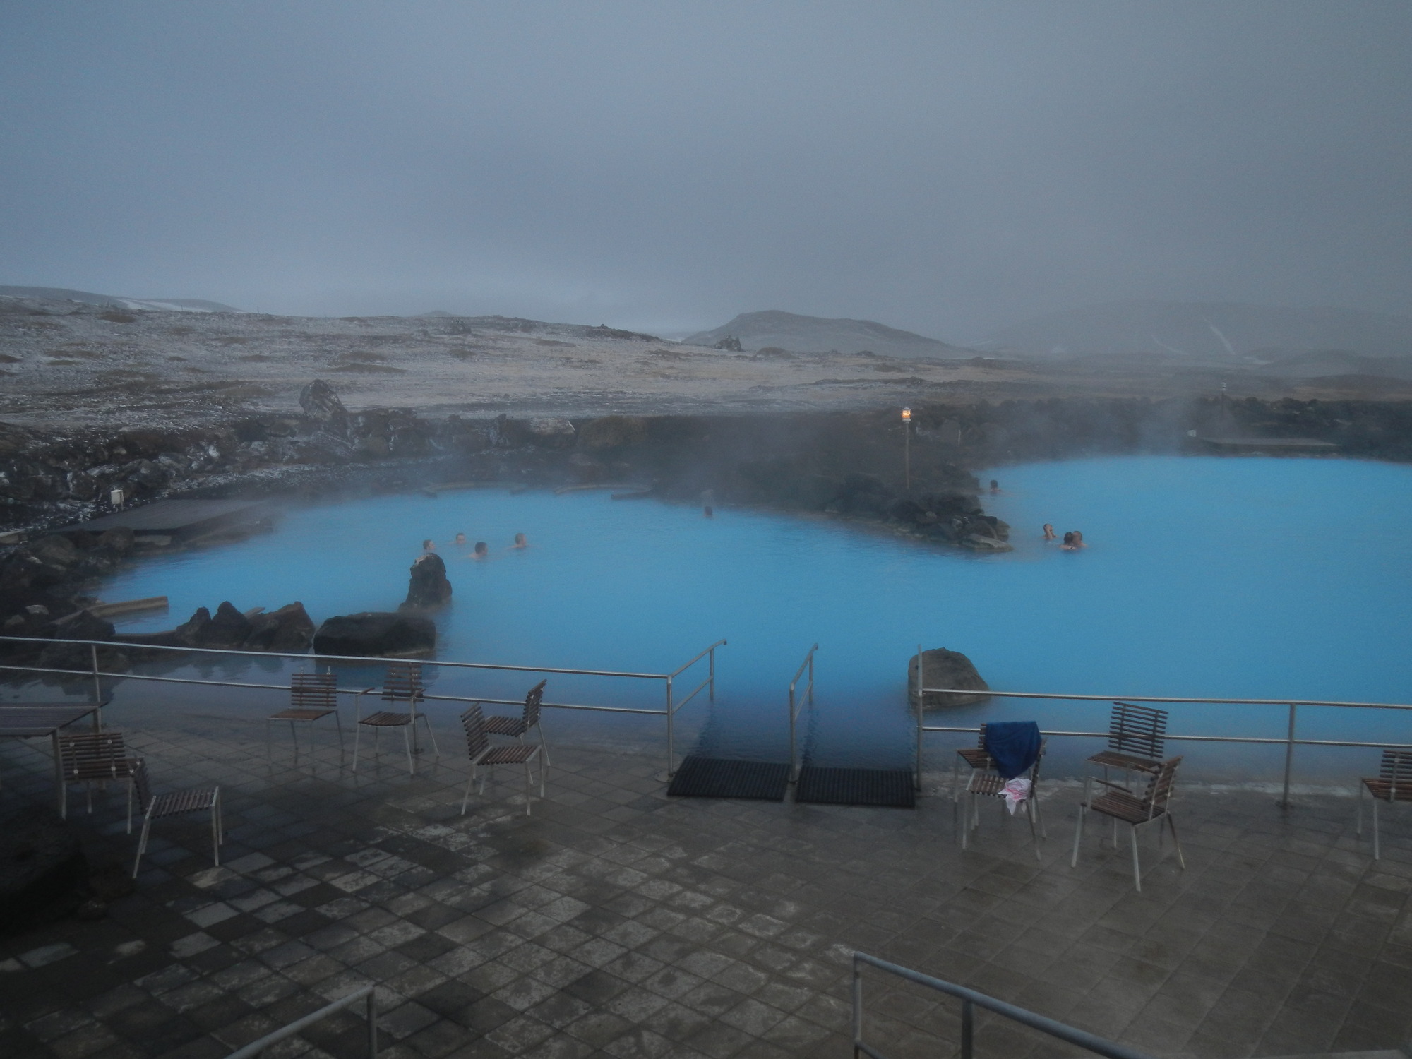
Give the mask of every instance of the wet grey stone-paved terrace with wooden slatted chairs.
[[[388, 1059], [842, 1058], [853, 949], [1156, 1056], [1412, 1036], [1412, 819], [1388, 815], [1375, 864], [1348, 798], [1286, 815], [1265, 794], [1183, 789], [1189, 867], [1149, 834], [1137, 894], [1125, 847], [1086, 839], [1069, 868], [1073, 785], [1051, 785], [1036, 863], [995, 806], [962, 851], [940, 796], [669, 801], [659, 757], [559, 747], [531, 818], [511, 770], [462, 818], [455, 757], [409, 779], [385, 755], [354, 778], [336, 754], [271, 771], [258, 726], [130, 737], [158, 789], [222, 784], [226, 863], [210, 867], [201, 818], [158, 823], [109, 918], [0, 943], [6, 1059], [219, 1058], [363, 983]], [[0, 775], [7, 796], [52, 796], [32, 748], [0, 747]], [[96, 861], [131, 856], [121, 813], [110, 795], [76, 816]], [[955, 1001], [877, 976], [868, 1000], [890, 1056], [955, 1052]], [[345, 1014], [273, 1055], [363, 1042]], [[986, 1018], [977, 1048], [1073, 1053]]]

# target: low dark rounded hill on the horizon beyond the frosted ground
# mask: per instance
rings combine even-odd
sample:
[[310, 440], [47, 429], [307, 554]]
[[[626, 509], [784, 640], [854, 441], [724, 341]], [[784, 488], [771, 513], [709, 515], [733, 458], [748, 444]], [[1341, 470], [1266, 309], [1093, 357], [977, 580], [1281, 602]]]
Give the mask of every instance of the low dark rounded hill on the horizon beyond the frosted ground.
[[767, 309], [743, 312], [730, 323], [703, 330], [685, 339], [692, 346], [714, 346], [726, 339], [740, 339], [741, 349], [758, 350], [777, 346], [794, 353], [858, 353], [868, 350], [890, 357], [964, 357], [970, 350], [950, 346], [925, 335], [898, 330], [875, 321], [826, 319], [794, 312]]

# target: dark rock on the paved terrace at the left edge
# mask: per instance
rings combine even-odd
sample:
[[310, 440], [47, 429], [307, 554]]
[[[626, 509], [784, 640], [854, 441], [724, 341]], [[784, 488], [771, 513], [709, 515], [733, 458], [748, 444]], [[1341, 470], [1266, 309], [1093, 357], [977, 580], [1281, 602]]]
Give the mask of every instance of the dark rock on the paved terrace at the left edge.
[[0, 932], [73, 911], [86, 880], [83, 850], [58, 813], [38, 805], [0, 812]]

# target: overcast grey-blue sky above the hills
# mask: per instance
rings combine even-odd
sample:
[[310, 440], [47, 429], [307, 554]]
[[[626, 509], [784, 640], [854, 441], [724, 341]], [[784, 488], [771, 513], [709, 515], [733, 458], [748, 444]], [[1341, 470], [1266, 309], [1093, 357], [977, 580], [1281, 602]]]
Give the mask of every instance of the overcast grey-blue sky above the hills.
[[1408, 312], [1412, 4], [23, 3], [0, 282], [971, 340]]

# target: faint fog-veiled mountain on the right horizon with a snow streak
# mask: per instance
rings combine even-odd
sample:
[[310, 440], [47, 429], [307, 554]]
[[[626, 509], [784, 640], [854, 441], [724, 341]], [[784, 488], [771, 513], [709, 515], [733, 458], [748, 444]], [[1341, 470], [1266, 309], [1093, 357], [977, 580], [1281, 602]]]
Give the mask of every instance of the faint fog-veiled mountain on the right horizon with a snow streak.
[[1156, 353], [1221, 360], [1341, 350], [1412, 357], [1412, 319], [1361, 309], [1130, 301], [1034, 316], [977, 345], [1027, 356]]

